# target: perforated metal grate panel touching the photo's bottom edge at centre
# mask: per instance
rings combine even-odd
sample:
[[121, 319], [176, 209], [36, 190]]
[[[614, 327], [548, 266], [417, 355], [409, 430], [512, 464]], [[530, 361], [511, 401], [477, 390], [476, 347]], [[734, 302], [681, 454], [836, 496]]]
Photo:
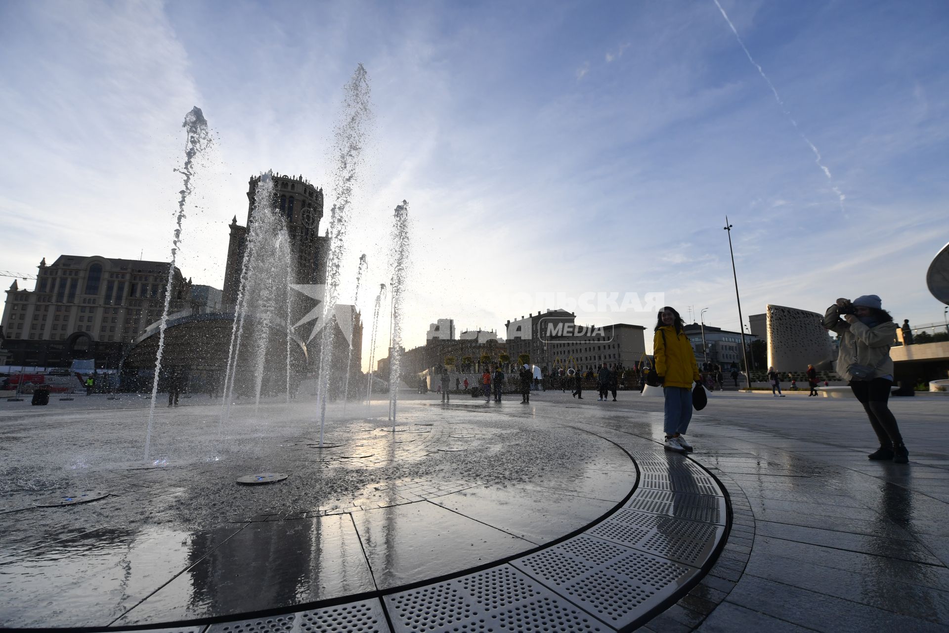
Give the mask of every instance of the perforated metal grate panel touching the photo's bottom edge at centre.
[[507, 565], [385, 596], [385, 602], [398, 632], [609, 630]]

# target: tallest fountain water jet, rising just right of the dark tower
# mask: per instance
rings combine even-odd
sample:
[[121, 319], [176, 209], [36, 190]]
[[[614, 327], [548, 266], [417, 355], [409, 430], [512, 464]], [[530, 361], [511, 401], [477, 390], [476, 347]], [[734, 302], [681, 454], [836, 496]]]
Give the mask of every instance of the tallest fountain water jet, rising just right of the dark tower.
[[349, 230], [350, 205], [353, 188], [359, 182], [363, 168], [363, 147], [372, 120], [369, 102], [369, 82], [365, 68], [356, 67], [352, 79], [345, 85], [344, 116], [334, 133], [336, 169], [333, 189], [336, 204], [329, 213], [329, 253], [326, 257], [326, 293], [324, 295], [324, 329], [320, 344], [320, 371], [317, 399], [320, 401], [320, 446], [326, 424], [326, 399], [329, 395], [329, 377], [333, 371], [333, 339], [335, 327], [330, 322], [340, 294], [340, 269], [345, 253], [346, 233]]

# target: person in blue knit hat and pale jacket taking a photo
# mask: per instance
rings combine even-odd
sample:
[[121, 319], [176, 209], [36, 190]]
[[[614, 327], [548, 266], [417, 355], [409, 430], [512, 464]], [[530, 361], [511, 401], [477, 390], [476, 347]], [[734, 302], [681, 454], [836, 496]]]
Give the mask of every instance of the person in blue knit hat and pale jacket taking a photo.
[[824, 326], [840, 336], [835, 369], [849, 381], [853, 395], [864, 405], [870, 426], [880, 441], [880, 448], [867, 457], [907, 463], [909, 451], [902, 443], [900, 426], [887, 406], [893, 386], [893, 359], [889, 349], [897, 328], [893, 317], [883, 309], [879, 296], [865, 294], [853, 301], [838, 299], [824, 314]]

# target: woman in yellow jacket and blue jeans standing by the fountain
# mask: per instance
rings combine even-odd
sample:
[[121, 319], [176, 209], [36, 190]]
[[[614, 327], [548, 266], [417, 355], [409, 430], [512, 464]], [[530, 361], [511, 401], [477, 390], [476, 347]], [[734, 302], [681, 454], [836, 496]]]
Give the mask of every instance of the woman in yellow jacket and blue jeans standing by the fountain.
[[679, 312], [663, 307], [653, 337], [656, 373], [665, 395], [665, 448], [679, 453], [692, 451], [682, 435], [692, 419], [692, 384], [701, 380], [692, 343], [682, 332], [684, 325]]

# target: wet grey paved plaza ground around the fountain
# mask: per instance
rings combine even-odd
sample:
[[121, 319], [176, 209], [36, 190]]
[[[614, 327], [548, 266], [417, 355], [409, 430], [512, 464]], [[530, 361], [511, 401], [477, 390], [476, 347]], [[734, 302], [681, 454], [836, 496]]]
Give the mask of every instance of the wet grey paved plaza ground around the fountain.
[[320, 448], [306, 399], [195, 397], [147, 461], [140, 397], [0, 402], [0, 625], [949, 630], [949, 399], [892, 401], [902, 466], [856, 400], [716, 392], [688, 457], [660, 398], [519, 400], [336, 405]]

